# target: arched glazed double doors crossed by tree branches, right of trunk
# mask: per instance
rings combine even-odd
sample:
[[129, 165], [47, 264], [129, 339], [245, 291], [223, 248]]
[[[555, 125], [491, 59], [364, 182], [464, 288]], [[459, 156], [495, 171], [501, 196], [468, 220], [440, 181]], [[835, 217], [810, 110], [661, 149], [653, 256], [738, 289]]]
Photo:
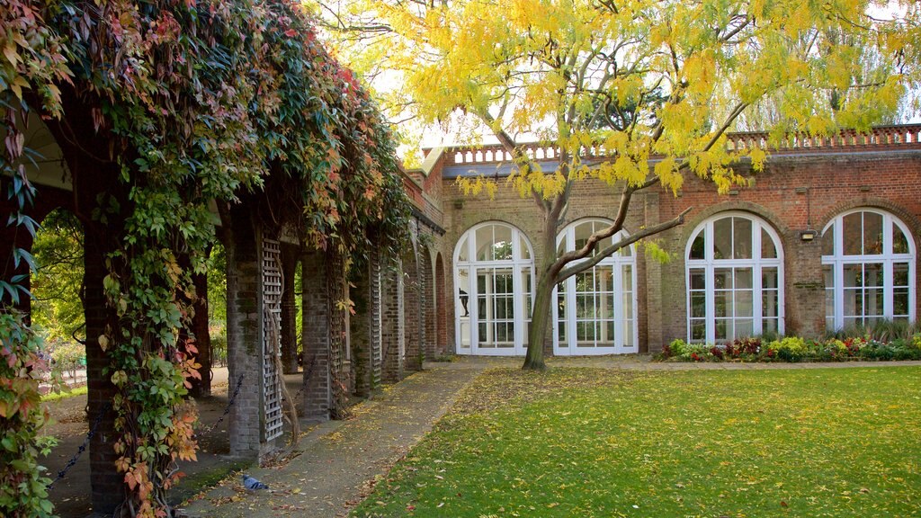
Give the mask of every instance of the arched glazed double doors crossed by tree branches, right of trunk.
[[[581, 219], [569, 224], [556, 237], [557, 254], [581, 248], [592, 233], [610, 225], [611, 221], [604, 219]], [[624, 236], [624, 231], [618, 232], [601, 241], [596, 250]], [[635, 286], [633, 245], [558, 284], [554, 296], [554, 354], [636, 352]]]

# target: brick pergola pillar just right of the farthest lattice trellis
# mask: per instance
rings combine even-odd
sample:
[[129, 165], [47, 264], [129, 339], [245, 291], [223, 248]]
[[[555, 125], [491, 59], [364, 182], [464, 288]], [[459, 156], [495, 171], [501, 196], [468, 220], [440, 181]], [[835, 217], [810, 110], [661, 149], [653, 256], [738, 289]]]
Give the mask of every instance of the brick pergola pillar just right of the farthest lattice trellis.
[[386, 382], [398, 382], [403, 376], [403, 282], [399, 261], [381, 275], [381, 377]]

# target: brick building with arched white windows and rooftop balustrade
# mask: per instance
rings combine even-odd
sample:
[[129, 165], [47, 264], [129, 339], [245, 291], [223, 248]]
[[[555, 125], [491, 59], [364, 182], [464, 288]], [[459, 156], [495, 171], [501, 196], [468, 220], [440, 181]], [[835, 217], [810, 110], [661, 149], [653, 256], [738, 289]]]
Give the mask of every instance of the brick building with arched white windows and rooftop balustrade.
[[[661, 263], [632, 246], [557, 288], [556, 355], [652, 352], [676, 338], [719, 342], [740, 336], [821, 336], [879, 320], [914, 322], [921, 235], [921, 126], [791, 137], [764, 171], [736, 170], [751, 185], [718, 195], [693, 175], [681, 191], [634, 195], [624, 231], [676, 217], [655, 237]], [[763, 147], [767, 135], [729, 135], [730, 147]], [[554, 149], [530, 157], [554, 169]], [[462, 176], [500, 179], [511, 160], [499, 147], [434, 148], [411, 171], [416, 205], [444, 229], [429, 245], [438, 350], [473, 355], [524, 353], [534, 265], [548, 251], [530, 198], [501, 186], [495, 198], [465, 196]], [[573, 249], [615, 217], [618, 192], [577, 184], [557, 236]], [[441, 291], [447, 295], [440, 296]], [[443, 329], [441, 326], [443, 325]]]

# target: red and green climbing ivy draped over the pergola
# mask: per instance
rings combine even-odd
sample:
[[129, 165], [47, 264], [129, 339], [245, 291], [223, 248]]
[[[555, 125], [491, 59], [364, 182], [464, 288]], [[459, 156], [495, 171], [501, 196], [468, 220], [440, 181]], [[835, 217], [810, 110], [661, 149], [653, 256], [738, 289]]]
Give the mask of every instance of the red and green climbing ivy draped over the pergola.
[[[210, 204], [266, 189], [318, 248], [361, 253], [371, 233], [395, 246], [408, 203], [392, 138], [297, 2], [14, 1], [0, 18], [5, 171], [27, 179], [20, 121], [33, 109], [64, 123], [88, 112], [117, 164], [118, 184], [91, 215], [114, 252], [109, 318], [87, 347], [110, 362], [122, 510], [164, 516], [176, 463], [197, 449], [185, 400], [197, 351], [178, 336], [216, 239]], [[34, 444], [27, 428], [17, 430]]]

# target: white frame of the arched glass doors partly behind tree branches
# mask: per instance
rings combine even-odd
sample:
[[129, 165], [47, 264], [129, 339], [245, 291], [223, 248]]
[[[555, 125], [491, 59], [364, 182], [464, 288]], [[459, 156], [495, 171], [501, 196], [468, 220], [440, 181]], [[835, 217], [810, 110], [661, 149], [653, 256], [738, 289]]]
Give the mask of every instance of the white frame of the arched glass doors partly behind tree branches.
[[[559, 249], [560, 244], [565, 241], [565, 251], [573, 251], [576, 249], [576, 229], [580, 225], [587, 223], [601, 223], [603, 225], [611, 225], [612, 221], [606, 218], [581, 218], [573, 221], [572, 223], [566, 225], [563, 230], [560, 230], [560, 233], [556, 236], [556, 247]], [[629, 234], [621, 230], [617, 234], [613, 235], [611, 238], [608, 238], [599, 243], [599, 248], [608, 246], [616, 241], [620, 241], [624, 237], [629, 236]], [[630, 255], [624, 256], [620, 253], [614, 253], [608, 257], [605, 257], [600, 261], [600, 263], [594, 266], [592, 269], [596, 269], [599, 266], [610, 267], [612, 268], [612, 290], [613, 290], [613, 323], [614, 323], [614, 340], [611, 347], [578, 347], [577, 340], [577, 315], [575, 311], [567, 312], [565, 322], [565, 346], [561, 346], [559, 340], [559, 325], [560, 325], [560, 315], [559, 308], [557, 305], [557, 300], [559, 300], [559, 288], [554, 286], [553, 294], [553, 335], [554, 335], [554, 355], [556, 356], [590, 356], [590, 355], [603, 355], [603, 354], [628, 354], [635, 353], [639, 350], [639, 323], [638, 323], [638, 302], [637, 302], [637, 287], [636, 287], [636, 247], [635, 245], [629, 245]], [[578, 264], [579, 262], [588, 261], [588, 259], [582, 259], [578, 262], [572, 263], [573, 265]], [[632, 336], [632, 346], [624, 345], [624, 300], [621, 295], [624, 292], [624, 266], [630, 266], [631, 273], [631, 282], [632, 282], [632, 306], [633, 314], [631, 319], [633, 320], [633, 336]], [[576, 308], [576, 281], [577, 276], [572, 276], [563, 281], [565, 284], [565, 304], [567, 308]], [[598, 322], [597, 320], [595, 322]], [[602, 321], [603, 322], [603, 321]]]

